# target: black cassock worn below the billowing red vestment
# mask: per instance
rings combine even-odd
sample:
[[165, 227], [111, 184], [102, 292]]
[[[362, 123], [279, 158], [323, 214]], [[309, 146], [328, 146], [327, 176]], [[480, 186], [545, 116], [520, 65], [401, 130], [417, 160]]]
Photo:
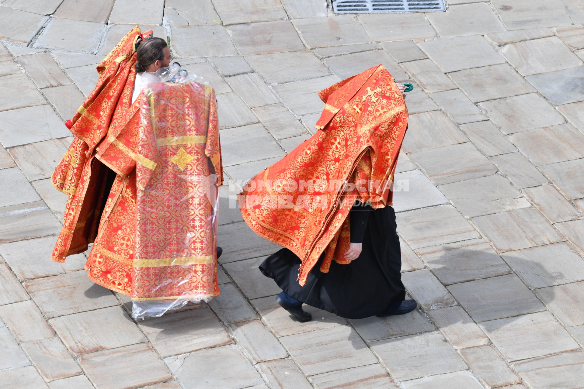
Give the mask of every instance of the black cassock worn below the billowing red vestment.
[[393, 207], [371, 209], [369, 205], [356, 205], [349, 216], [351, 242], [360, 243], [361, 238], [363, 242], [361, 254], [350, 264], [332, 261], [329, 272], [323, 273], [319, 270], [323, 253], [306, 284], [300, 286], [300, 258], [282, 248], [259, 265], [260, 271], [273, 278], [288, 295], [340, 317], [360, 319], [386, 308], [397, 310], [405, 299], [405, 288]]

